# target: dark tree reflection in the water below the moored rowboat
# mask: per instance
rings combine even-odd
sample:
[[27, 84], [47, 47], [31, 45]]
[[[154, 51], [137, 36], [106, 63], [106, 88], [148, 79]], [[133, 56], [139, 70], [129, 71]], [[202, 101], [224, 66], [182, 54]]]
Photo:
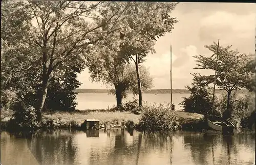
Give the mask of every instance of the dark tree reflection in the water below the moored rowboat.
[[[245, 139], [250, 139], [250, 136], [245, 135]], [[235, 140], [236, 142], [234, 142]], [[238, 162], [238, 152], [241, 150], [240, 144], [251, 144], [251, 142], [245, 142], [246, 140], [244, 140], [243, 135], [223, 135], [218, 132], [184, 135], [184, 144], [190, 146], [191, 156], [195, 164], [245, 163]], [[210, 162], [210, 156], [212, 162]]]

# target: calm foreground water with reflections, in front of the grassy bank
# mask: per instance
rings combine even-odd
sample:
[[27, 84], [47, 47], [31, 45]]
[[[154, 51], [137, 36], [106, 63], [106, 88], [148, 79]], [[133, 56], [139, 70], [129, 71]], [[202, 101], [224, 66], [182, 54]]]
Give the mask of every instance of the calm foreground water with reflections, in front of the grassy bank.
[[5, 164], [253, 164], [255, 134], [169, 134], [126, 130], [40, 132], [31, 139], [1, 132]]

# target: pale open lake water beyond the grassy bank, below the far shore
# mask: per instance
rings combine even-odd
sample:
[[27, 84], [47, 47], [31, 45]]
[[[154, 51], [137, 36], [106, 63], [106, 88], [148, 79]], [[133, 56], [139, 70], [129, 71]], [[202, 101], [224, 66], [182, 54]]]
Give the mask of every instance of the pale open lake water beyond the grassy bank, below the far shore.
[[[181, 109], [181, 106], [179, 103], [182, 102], [182, 97], [189, 97], [190, 94], [179, 94], [175, 93], [173, 94], [173, 103], [175, 104], [176, 109]], [[127, 98], [123, 99], [123, 103], [125, 101], [133, 100], [134, 95], [128, 94]], [[135, 96], [136, 99], [138, 99], [138, 96]], [[164, 103], [170, 102], [170, 94], [149, 94], [144, 93], [142, 95], [142, 98], [144, 101], [153, 103]], [[113, 105], [116, 105], [116, 98], [114, 95], [108, 95], [107, 93], [78, 93], [76, 97], [76, 101], [78, 102], [76, 108], [79, 110], [84, 109], [106, 109], [109, 107], [112, 107]]]

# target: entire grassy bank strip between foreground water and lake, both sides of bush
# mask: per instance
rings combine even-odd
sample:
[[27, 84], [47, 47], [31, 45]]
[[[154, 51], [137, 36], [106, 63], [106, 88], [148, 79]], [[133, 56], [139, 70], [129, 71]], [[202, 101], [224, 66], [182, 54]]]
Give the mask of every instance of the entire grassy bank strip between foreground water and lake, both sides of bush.
[[[182, 129], [202, 128], [203, 115], [196, 113], [185, 113], [176, 111], [175, 116], [178, 118]], [[1, 113], [1, 130], [8, 128], [8, 122], [12, 118], [12, 113]], [[74, 128], [80, 129], [82, 123], [86, 119], [98, 119], [99, 125], [104, 125], [110, 122], [112, 125], [121, 125], [124, 121], [127, 126], [131, 121], [134, 122], [135, 129], [141, 129], [139, 120], [141, 115], [135, 115], [131, 112], [108, 112], [102, 109], [97, 111], [75, 111], [42, 113], [42, 121], [40, 128], [42, 129], [61, 129]]]

